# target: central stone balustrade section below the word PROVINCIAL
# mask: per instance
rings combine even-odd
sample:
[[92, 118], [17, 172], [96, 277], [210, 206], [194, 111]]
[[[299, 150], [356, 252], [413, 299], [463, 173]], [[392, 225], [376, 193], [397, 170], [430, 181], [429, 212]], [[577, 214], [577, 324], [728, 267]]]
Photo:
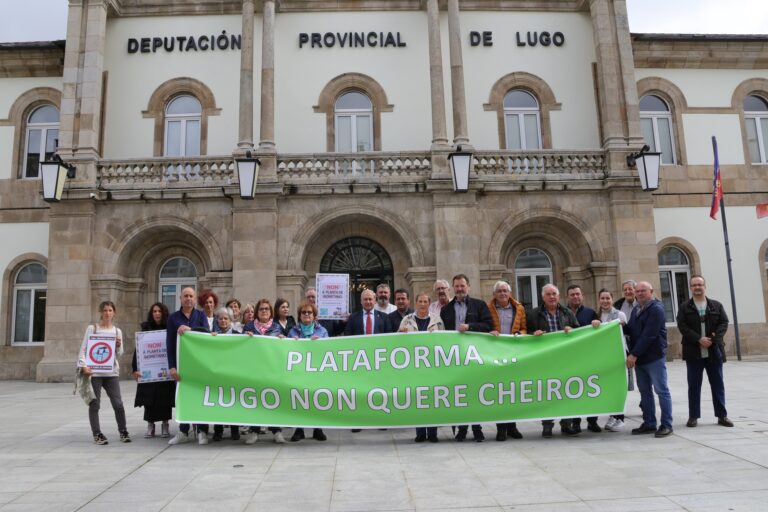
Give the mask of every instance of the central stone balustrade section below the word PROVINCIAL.
[[278, 155], [278, 180], [286, 183], [337, 181], [424, 181], [432, 172], [427, 152]]

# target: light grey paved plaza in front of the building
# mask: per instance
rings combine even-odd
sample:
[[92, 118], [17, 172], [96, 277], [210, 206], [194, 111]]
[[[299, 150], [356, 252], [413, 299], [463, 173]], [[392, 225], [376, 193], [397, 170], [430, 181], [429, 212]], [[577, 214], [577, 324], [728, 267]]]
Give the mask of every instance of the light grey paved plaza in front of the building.
[[630, 435], [640, 424], [632, 392], [624, 432], [547, 440], [529, 422], [520, 424], [524, 439], [499, 443], [485, 425], [482, 444], [456, 443], [441, 428], [439, 444], [414, 444], [412, 430], [327, 430], [324, 443], [277, 445], [265, 435], [253, 446], [228, 438], [168, 446], [142, 437], [136, 385], [124, 381], [134, 441], [118, 442], [104, 397], [110, 444], [96, 446], [71, 384], [4, 381], [0, 511], [768, 510], [768, 363], [726, 364], [735, 428], [715, 424], [708, 389], [699, 427], [686, 428], [685, 366], [669, 369], [670, 437]]

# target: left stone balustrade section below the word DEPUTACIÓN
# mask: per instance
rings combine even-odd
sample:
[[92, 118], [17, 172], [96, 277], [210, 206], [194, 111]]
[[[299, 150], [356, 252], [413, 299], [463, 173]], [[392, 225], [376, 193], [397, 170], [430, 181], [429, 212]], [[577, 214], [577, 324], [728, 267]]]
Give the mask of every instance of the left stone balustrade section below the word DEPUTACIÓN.
[[100, 186], [108, 189], [187, 188], [229, 185], [235, 175], [232, 157], [101, 160]]

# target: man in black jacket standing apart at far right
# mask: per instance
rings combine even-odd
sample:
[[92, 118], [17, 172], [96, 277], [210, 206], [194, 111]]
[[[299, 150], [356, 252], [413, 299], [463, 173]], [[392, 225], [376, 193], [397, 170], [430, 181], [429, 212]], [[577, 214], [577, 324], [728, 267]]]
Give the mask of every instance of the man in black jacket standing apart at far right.
[[712, 389], [712, 403], [718, 425], [732, 427], [725, 410], [723, 362], [728, 330], [728, 316], [723, 305], [706, 296], [703, 277], [691, 277], [691, 299], [682, 303], [677, 312], [677, 328], [683, 335], [683, 360], [688, 369], [688, 427], [695, 427], [701, 417], [701, 383], [707, 372]]

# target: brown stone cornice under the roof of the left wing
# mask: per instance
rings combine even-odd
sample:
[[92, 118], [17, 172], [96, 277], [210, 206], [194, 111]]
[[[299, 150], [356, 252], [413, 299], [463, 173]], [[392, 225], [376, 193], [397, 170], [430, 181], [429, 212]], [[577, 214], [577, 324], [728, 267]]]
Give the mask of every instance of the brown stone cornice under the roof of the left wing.
[[64, 41], [0, 43], [0, 78], [63, 74]]

